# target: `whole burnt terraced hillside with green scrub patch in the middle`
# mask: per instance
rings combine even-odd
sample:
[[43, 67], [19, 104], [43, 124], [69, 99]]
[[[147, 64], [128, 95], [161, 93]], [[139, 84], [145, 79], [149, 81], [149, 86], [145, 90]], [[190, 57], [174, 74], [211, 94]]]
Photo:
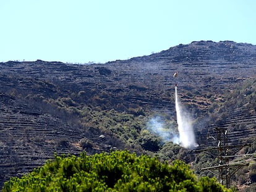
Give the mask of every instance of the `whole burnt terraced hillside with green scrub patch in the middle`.
[[[0, 184], [43, 165], [55, 151], [160, 150], [158, 138], [145, 132], [147, 121], [161, 114], [176, 126], [175, 83], [195, 119], [200, 147], [209, 145], [207, 132], [219, 125], [233, 127], [234, 142], [255, 136], [255, 106], [223, 107], [229, 93], [255, 74], [256, 46], [233, 41], [180, 44], [106, 64], [0, 63]], [[245, 131], [234, 133], [243, 122]]]

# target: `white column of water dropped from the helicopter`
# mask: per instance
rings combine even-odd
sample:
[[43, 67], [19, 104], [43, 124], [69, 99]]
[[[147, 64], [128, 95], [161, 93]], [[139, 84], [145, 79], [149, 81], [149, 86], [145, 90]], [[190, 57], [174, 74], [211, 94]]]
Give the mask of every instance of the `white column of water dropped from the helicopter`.
[[198, 146], [195, 141], [194, 129], [189, 115], [184, 115], [181, 111], [179, 99], [177, 97], [177, 86], [175, 86], [175, 107], [179, 130], [179, 143], [181, 143], [181, 146], [184, 148], [194, 149]]

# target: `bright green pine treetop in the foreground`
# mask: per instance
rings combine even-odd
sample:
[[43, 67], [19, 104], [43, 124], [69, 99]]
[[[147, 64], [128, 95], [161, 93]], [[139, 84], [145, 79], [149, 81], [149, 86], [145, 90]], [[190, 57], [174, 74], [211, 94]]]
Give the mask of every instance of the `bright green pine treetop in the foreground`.
[[112, 151], [87, 156], [54, 156], [43, 167], [11, 178], [6, 191], [230, 191], [215, 178], [198, 180], [182, 161], [161, 163], [156, 157]]

